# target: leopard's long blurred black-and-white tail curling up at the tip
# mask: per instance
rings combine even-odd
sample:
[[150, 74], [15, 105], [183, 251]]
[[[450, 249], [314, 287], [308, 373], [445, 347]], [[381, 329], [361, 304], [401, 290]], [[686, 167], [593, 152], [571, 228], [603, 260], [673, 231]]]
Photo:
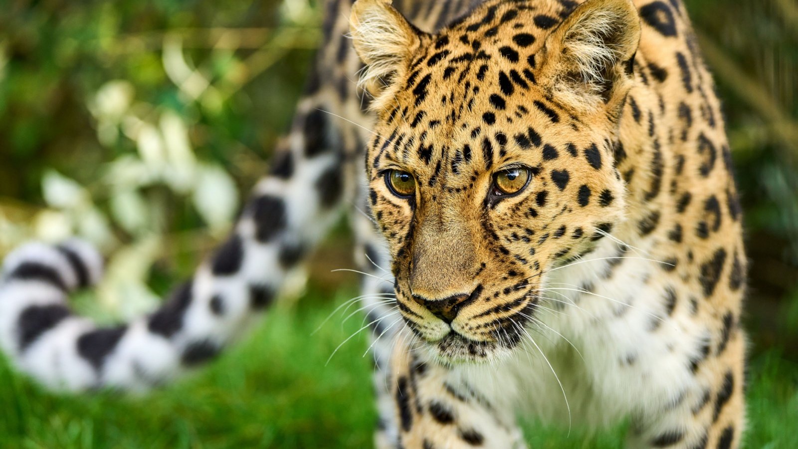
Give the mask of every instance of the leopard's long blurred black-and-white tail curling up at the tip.
[[219, 353], [352, 201], [361, 137], [331, 115], [345, 106], [329, 90], [306, 94], [272, 173], [255, 186], [231, 236], [148, 316], [104, 328], [70, 311], [69, 292], [101, 277], [101, 257], [89, 244], [34, 243], [10, 253], [0, 280], [0, 347], [12, 364], [57, 391], [135, 391]]

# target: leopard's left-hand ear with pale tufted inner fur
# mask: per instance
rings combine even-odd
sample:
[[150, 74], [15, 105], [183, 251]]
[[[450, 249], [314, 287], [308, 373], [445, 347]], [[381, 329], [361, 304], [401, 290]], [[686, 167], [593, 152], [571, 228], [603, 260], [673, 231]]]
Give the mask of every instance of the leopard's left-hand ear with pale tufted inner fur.
[[[350, 31], [354, 49], [366, 67], [361, 85], [375, 99], [406, 76], [410, 59], [425, 35], [411, 25], [391, 0], [358, 0], [352, 6]], [[374, 101], [373, 105], [379, 101]]]

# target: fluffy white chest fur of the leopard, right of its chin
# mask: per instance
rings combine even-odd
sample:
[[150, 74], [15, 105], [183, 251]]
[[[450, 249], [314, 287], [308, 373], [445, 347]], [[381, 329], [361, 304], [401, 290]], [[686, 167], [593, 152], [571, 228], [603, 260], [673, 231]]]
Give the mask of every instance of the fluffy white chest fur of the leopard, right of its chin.
[[[541, 284], [548, 299], [512, 357], [452, 375], [522, 415], [565, 426], [603, 427], [677, 402], [694, 382], [685, 360], [705, 337], [685, 311], [667, 315], [661, 263], [634, 249], [615, 259], [618, 244], [605, 240], [551, 271]], [[604, 279], [612, 261], [620, 263]]]

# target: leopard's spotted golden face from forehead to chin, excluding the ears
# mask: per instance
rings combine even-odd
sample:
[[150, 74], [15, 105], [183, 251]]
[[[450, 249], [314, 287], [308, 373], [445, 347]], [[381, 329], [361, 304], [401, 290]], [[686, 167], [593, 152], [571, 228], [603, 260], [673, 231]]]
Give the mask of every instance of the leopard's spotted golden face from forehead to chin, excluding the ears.
[[[488, 14], [519, 16], [509, 10]], [[543, 88], [545, 36], [505, 22], [492, 37], [468, 20], [421, 35], [367, 149], [398, 307], [448, 363], [511, 353], [538, 319], [544, 275], [623, 213], [611, 114], [579, 113]]]

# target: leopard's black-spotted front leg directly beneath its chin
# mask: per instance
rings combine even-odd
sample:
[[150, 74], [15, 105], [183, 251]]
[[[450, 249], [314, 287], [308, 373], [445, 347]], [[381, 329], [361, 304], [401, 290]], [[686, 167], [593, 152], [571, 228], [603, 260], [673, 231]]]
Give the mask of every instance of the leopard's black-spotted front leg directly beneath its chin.
[[400, 332], [397, 338], [386, 391], [394, 406], [389, 425], [399, 436], [385, 447], [526, 447], [512, 411], [500, 410], [480, 385], [423, 360], [409, 349], [409, 336]]

